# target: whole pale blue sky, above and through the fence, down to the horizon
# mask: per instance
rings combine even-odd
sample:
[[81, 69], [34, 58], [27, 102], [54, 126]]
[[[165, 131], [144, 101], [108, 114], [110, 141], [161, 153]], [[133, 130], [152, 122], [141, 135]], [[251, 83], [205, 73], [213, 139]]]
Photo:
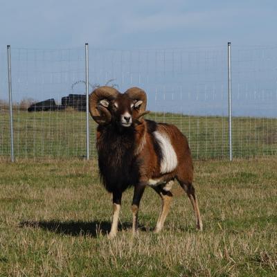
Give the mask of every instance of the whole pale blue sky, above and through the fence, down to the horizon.
[[158, 111], [226, 115], [231, 42], [234, 114], [277, 116], [276, 15], [276, 0], [0, 0], [0, 99], [7, 44], [14, 99], [60, 101], [84, 92], [87, 42], [92, 84], [142, 86]]

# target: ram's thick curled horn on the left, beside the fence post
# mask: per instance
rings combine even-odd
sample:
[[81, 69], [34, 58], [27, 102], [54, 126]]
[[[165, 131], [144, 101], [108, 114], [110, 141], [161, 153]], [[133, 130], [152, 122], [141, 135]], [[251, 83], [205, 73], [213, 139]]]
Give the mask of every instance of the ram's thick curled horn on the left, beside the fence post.
[[101, 105], [99, 101], [102, 99], [112, 100], [116, 98], [118, 91], [114, 87], [98, 87], [89, 95], [89, 112], [93, 120], [98, 124], [107, 124], [111, 121], [111, 113]]

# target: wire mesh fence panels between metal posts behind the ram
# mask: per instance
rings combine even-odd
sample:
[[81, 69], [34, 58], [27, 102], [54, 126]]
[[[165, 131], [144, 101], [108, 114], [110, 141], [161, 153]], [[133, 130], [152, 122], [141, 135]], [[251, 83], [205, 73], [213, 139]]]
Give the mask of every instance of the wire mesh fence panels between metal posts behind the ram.
[[[277, 154], [277, 47], [232, 47], [233, 157]], [[84, 47], [12, 47], [15, 158], [86, 156]], [[177, 125], [196, 159], [228, 159], [227, 47], [89, 48], [89, 89], [148, 93], [147, 116]], [[6, 49], [0, 51], [0, 156], [10, 157]], [[48, 100], [49, 109], [28, 111]], [[51, 104], [49, 104], [51, 103]], [[46, 105], [46, 104], [45, 104]], [[30, 110], [30, 109], [29, 109]], [[89, 122], [96, 157], [96, 123]]]

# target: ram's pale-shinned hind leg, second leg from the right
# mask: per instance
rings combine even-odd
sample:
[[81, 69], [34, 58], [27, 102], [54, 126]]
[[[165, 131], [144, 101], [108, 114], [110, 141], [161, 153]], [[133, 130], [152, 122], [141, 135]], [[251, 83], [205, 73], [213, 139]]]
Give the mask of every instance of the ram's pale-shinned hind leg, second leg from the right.
[[[170, 181], [170, 182], [172, 182], [172, 181]], [[166, 184], [166, 187], [167, 186], [169, 187], [170, 184]], [[159, 194], [159, 196], [161, 197], [161, 201], [163, 202], [162, 207], [161, 207], [161, 213], [159, 215], [159, 219], [158, 219], [156, 227], [154, 229], [154, 233], [159, 233], [161, 231], [161, 229], [163, 229], [163, 224], [166, 221], [166, 217], [167, 217], [169, 209], [170, 209], [170, 203], [172, 201], [173, 195], [172, 195], [172, 193], [170, 193], [170, 191], [166, 191], [163, 188], [161, 188], [160, 186], [152, 186], [152, 188], [154, 188], [154, 190]]]

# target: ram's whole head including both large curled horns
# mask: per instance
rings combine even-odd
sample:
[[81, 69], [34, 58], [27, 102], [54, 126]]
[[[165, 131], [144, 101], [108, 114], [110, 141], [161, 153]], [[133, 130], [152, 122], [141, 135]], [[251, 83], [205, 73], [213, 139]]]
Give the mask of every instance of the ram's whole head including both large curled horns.
[[89, 96], [89, 112], [100, 125], [116, 123], [130, 127], [141, 123], [145, 111], [147, 97], [143, 89], [132, 87], [120, 93], [114, 87], [98, 87]]

